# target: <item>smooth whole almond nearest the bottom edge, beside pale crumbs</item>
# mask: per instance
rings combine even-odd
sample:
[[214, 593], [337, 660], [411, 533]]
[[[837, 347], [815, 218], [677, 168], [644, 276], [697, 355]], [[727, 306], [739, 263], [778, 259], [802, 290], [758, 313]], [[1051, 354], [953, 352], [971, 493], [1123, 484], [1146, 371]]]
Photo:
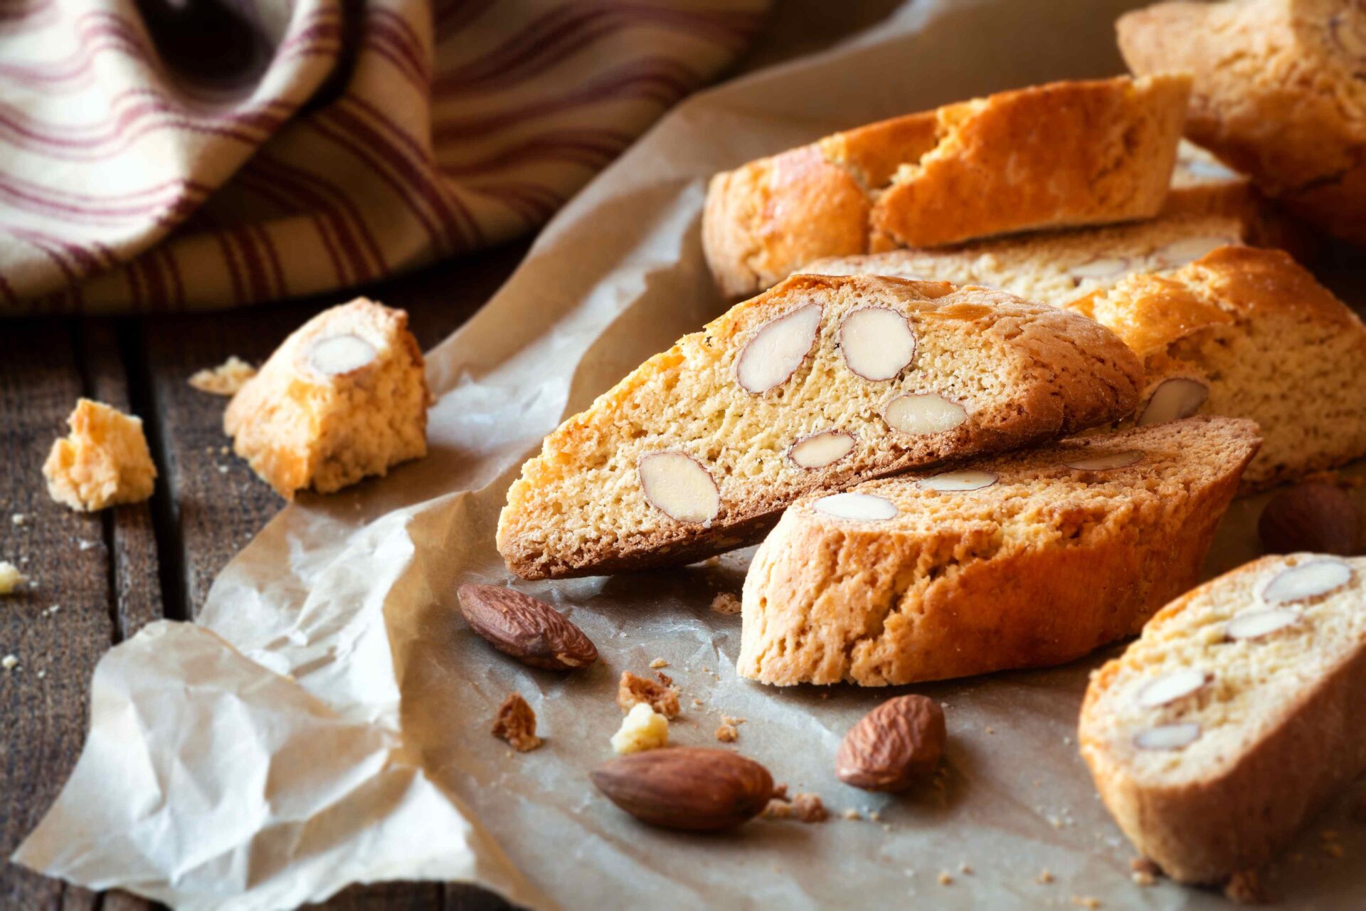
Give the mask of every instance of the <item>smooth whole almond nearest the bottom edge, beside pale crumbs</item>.
[[665, 829], [713, 832], [758, 815], [773, 776], [728, 750], [665, 747], [604, 762], [590, 773], [607, 798], [637, 819]]

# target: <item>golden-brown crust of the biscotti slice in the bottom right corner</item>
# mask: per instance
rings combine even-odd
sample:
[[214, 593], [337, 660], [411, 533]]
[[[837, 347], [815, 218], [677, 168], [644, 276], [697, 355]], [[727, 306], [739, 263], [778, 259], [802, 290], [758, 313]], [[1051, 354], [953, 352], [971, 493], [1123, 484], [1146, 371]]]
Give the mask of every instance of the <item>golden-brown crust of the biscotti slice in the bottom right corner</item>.
[[[1198, 593], [1235, 574], [1255, 574], [1264, 557], [1177, 598], [1149, 624], [1160, 628]], [[1361, 570], [1358, 570], [1359, 572]], [[1143, 788], [1093, 735], [1097, 703], [1123, 658], [1091, 676], [1078, 742], [1102, 802], [1134, 847], [1180, 882], [1220, 882], [1261, 866], [1343, 785], [1366, 768], [1366, 642], [1269, 733], [1216, 777], [1183, 787]]]

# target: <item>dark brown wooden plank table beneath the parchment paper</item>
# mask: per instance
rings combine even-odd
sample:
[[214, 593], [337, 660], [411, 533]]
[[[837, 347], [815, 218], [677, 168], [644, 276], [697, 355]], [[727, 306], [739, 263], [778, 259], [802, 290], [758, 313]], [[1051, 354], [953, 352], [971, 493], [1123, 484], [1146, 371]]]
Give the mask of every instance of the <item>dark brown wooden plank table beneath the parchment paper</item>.
[[[361, 288], [411, 316], [430, 348], [512, 272], [519, 242]], [[201, 367], [238, 355], [260, 363], [292, 329], [344, 292], [302, 302], [184, 317], [0, 320], [0, 560], [38, 587], [0, 600], [0, 851], [4, 856], [56, 799], [85, 742], [96, 661], [146, 623], [189, 620], [223, 565], [283, 505], [224, 445], [225, 399], [190, 388]], [[53, 503], [42, 478], [52, 441], [78, 396], [137, 414], [161, 477], [138, 505], [94, 515]], [[16, 524], [11, 516], [23, 516]], [[52, 612], [52, 605], [59, 605]], [[0, 908], [148, 911], [127, 893], [98, 895], [5, 863]], [[347, 889], [326, 908], [507, 908], [456, 884]]]

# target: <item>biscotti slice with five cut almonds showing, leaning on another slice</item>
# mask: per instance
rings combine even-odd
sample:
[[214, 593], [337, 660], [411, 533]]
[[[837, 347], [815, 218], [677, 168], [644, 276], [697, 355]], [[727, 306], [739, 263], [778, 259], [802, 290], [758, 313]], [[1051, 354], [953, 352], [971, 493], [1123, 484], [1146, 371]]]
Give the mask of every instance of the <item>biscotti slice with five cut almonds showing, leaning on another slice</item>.
[[1108, 329], [982, 288], [792, 276], [646, 361], [550, 433], [499, 518], [527, 579], [687, 563], [810, 490], [1128, 414]]

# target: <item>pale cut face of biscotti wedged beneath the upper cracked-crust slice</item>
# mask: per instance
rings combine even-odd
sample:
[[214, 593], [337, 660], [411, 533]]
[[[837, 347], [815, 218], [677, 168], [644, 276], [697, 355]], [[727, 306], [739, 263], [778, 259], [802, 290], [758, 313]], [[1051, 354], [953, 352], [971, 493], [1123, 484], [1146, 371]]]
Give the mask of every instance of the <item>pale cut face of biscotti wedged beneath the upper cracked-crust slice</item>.
[[1244, 224], [1228, 216], [1167, 216], [1109, 228], [817, 260], [807, 272], [977, 284], [1061, 307], [1127, 275], [1183, 266], [1216, 247], [1240, 243], [1244, 234]]

